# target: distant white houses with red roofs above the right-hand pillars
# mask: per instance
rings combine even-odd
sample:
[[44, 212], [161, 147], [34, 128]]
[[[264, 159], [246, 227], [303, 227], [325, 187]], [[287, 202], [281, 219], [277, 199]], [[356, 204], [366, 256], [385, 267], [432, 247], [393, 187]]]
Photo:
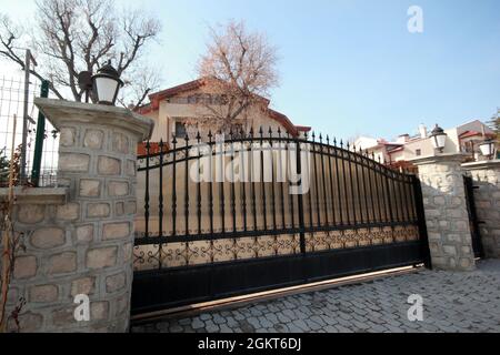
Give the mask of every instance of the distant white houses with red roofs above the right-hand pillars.
[[[384, 139], [360, 136], [354, 141], [357, 148], [373, 153], [384, 164], [409, 168], [408, 162], [418, 156], [433, 155], [434, 148], [430, 139], [431, 130], [421, 124], [418, 134], [402, 134], [392, 142]], [[443, 153], [469, 153], [471, 159], [480, 159], [479, 144], [494, 136], [494, 132], [479, 120], [444, 130], [447, 142]]]

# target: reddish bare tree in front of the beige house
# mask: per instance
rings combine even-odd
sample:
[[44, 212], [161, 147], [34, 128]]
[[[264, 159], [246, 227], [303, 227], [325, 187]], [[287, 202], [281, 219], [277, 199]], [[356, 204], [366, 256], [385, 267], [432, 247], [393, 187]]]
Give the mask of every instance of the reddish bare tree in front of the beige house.
[[198, 72], [207, 81], [211, 100], [204, 102], [210, 118], [222, 129], [246, 118], [256, 104], [269, 104], [270, 89], [278, 85], [277, 49], [262, 33], [248, 32], [243, 22], [230, 21], [219, 29], [210, 28], [207, 53]]

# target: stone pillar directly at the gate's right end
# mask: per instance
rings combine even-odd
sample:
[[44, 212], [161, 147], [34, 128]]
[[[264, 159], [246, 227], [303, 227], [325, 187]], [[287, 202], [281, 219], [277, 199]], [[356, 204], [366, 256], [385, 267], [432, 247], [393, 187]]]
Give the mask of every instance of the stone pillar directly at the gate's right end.
[[412, 160], [419, 168], [432, 267], [474, 268], [467, 211], [463, 154], [441, 154]]

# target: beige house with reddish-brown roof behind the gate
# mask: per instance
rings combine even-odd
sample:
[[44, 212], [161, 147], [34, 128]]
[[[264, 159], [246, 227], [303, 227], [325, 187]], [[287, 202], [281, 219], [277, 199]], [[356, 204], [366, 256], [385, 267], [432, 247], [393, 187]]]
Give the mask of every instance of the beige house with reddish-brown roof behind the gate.
[[[156, 123], [150, 150], [154, 151], [160, 141], [171, 146], [173, 136], [183, 143], [186, 136], [196, 139], [198, 131], [204, 134], [202, 140], [207, 140], [209, 130], [216, 133], [216, 125], [206, 124], [206, 119], [211, 115], [208, 105], [217, 106], [222, 103], [218, 101], [217, 94], [210, 92], [210, 88], [209, 79], [198, 79], [149, 95], [150, 103], [139, 108], [138, 112], [153, 119]], [[303, 136], [311, 130], [309, 126], [293, 124], [287, 115], [269, 108], [268, 99], [259, 97], [256, 102], [244, 114], [234, 119], [239, 121], [237, 126], [239, 124], [247, 133], [253, 129], [258, 134], [262, 126], [266, 134], [269, 128], [277, 134], [279, 128], [283, 136], [287, 133], [290, 136]], [[144, 152], [143, 145], [139, 146], [139, 154]]]

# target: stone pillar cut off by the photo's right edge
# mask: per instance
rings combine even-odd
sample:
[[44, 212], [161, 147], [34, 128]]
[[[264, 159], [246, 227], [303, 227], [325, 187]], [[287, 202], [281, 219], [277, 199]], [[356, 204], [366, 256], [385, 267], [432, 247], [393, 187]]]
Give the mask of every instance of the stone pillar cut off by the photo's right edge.
[[462, 164], [478, 190], [474, 202], [486, 257], [500, 257], [500, 160]]

